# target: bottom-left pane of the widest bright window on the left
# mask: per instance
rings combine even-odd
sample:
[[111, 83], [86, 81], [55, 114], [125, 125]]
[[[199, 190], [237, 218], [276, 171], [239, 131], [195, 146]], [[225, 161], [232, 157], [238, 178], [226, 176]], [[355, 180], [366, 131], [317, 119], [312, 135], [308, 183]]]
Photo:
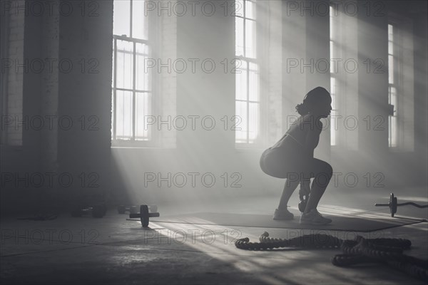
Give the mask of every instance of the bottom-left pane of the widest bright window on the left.
[[132, 138], [132, 92], [116, 90], [116, 138]]

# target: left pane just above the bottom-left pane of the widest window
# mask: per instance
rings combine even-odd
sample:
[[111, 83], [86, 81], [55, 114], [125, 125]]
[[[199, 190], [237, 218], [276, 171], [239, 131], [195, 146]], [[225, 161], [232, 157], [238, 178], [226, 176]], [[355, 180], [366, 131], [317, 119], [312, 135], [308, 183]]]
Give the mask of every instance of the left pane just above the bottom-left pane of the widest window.
[[133, 88], [133, 43], [117, 41], [116, 88]]

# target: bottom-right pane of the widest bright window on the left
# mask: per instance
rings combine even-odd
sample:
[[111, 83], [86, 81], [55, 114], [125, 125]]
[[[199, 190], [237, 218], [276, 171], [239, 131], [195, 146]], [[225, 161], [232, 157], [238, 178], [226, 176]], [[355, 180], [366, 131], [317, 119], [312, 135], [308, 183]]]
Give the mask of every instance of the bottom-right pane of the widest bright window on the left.
[[147, 118], [151, 115], [151, 93], [136, 93], [136, 140], [148, 140], [151, 128]]

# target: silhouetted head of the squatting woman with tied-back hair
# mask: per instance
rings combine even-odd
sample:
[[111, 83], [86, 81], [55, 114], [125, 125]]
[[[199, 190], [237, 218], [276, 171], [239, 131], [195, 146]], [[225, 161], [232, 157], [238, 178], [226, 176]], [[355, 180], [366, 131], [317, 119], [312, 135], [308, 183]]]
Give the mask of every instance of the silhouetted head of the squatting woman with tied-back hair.
[[308, 113], [317, 117], [327, 118], [332, 110], [332, 97], [325, 88], [317, 87], [310, 90], [303, 103], [296, 106], [297, 113], [306, 115]]

